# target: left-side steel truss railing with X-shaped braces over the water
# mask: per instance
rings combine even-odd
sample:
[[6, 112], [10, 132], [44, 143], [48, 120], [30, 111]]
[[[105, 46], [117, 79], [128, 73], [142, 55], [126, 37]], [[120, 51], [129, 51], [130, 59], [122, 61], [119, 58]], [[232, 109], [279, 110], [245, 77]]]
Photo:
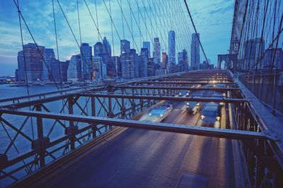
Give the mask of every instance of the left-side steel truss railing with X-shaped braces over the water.
[[[59, 108], [59, 113], [74, 114], [74, 117], [85, 115], [132, 119], [156, 102], [157, 100], [66, 95], [64, 98], [54, 98], [54, 101], [42, 100], [41, 103], [31, 105], [29, 111], [58, 113]], [[25, 106], [16, 109], [29, 108]], [[0, 186], [17, 182], [67, 153], [86, 147], [92, 141], [96, 142], [101, 136], [108, 134], [113, 126], [115, 124], [88, 124], [79, 122], [76, 118], [62, 121], [57, 118], [0, 113], [0, 130], [3, 133], [1, 140], [6, 140], [0, 143]], [[28, 127], [33, 127], [34, 135]]]

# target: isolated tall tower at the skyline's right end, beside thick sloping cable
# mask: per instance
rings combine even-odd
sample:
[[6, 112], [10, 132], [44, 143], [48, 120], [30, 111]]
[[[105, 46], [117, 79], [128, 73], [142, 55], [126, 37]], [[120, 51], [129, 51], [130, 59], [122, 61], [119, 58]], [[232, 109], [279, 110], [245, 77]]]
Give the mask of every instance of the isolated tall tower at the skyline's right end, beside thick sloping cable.
[[192, 70], [200, 69], [200, 33], [192, 33], [192, 44], [190, 47], [190, 59]]

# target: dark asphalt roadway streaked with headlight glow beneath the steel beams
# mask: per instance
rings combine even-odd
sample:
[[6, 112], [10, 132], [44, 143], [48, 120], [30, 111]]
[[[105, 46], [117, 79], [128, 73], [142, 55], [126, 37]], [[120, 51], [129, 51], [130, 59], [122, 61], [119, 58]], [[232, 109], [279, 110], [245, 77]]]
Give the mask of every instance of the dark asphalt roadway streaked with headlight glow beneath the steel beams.
[[[199, 112], [172, 103], [163, 122], [201, 125]], [[229, 140], [128, 129], [42, 187], [234, 187], [235, 181]]]

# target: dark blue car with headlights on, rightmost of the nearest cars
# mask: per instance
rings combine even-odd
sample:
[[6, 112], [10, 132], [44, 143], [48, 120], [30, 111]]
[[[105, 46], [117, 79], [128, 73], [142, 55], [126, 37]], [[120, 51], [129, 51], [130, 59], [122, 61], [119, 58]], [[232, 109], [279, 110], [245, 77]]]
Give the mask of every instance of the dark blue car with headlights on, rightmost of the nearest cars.
[[200, 118], [204, 125], [213, 126], [215, 122], [221, 120], [221, 108], [217, 102], [209, 102], [202, 107]]

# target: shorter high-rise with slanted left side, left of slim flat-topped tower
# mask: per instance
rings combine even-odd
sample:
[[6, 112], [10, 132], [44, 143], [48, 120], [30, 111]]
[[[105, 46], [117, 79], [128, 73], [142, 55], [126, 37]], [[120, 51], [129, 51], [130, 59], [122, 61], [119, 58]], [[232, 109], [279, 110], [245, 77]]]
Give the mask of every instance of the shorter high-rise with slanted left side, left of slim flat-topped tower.
[[81, 81], [82, 73], [81, 73], [81, 55], [73, 55], [71, 56], [71, 60], [69, 61], [69, 66], [67, 69], [67, 78], [68, 81]]

